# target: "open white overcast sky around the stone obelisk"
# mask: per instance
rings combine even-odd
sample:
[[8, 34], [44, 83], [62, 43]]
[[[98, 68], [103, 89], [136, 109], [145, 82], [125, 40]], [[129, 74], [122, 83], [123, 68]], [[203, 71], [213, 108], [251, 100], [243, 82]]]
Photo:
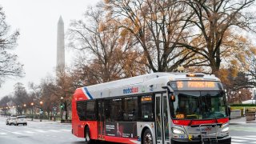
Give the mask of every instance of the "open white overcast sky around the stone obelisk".
[[[18, 46], [14, 50], [24, 64], [24, 78], [7, 79], [0, 88], [0, 98], [14, 91], [14, 84], [39, 84], [42, 78], [54, 74], [57, 53], [57, 23], [62, 15], [65, 32], [70, 20], [81, 19], [87, 6], [100, 0], [1, 0], [6, 22], [12, 30], [20, 30]], [[72, 55], [66, 50], [66, 57]], [[70, 61], [66, 58], [66, 62]], [[28, 90], [28, 89], [27, 89]]]

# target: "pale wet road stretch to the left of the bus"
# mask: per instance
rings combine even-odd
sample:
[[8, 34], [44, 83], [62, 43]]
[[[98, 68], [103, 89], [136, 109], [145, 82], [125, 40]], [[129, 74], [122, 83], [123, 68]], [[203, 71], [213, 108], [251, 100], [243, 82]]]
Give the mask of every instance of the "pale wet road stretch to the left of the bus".
[[84, 139], [71, 134], [70, 124], [59, 122], [31, 122], [27, 126], [7, 126], [6, 118], [0, 116], [1, 144], [80, 144]]

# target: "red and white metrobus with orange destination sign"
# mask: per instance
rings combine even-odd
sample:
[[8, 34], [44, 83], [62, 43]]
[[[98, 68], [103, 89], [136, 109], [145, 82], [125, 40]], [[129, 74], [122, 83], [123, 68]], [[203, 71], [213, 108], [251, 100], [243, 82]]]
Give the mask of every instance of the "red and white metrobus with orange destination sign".
[[88, 143], [231, 143], [222, 83], [202, 73], [145, 74], [78, 88], [72, 134]]

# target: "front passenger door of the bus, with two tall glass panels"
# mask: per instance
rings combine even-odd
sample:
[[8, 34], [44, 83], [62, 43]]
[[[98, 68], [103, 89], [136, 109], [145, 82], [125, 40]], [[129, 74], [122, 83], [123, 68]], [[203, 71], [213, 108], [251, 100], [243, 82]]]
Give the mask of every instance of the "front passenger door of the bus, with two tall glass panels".
[[170, 110], [166, 93], [155, 95], [155, 122], [157, 143], [170, 144]]

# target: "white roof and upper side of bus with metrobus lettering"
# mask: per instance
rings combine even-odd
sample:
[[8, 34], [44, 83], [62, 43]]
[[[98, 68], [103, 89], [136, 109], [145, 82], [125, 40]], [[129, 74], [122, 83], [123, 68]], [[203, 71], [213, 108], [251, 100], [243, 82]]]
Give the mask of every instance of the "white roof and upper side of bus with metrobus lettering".
[[107, 98], [130, 94], [143, 94], [163, 91], [170, 81], [200, 79], [202, 81], [219, 81], [214, 74], [202, 73], [153, 73], [132, 78], [124, 78], [113, 82], [105, 82], [92, 86], [80, 87], [74, 92], [74, 100]]

